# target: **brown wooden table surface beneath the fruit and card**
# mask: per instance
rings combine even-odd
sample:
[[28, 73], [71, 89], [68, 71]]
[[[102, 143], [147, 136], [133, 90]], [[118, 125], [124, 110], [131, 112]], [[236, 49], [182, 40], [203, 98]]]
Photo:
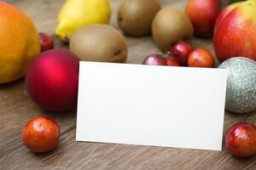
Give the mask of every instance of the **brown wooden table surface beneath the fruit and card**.
[[[56, 48], [68, 48], [55, 36], [56, 16], [64, 0], [11, 1], [32, 17], [39, 31], [52, 35]], [[112, 0], [111, 25], [116, 24], [119, 0]], [[172, 5], [183, 10], [186, 0], [161, 0], [162, 6]], [[161, 53], [152, 37], [126, 37], [128, 63], [141, 63], [144, 56]], [[195, 38], [194, 47], [212, 51], [212, 40]], [[22, 127], [34, 116], [46, 115], [61, 127], [58, 147], [46, 154], [34, 154], [22, 144]], [[224, 132], [236, 122], [256, 124], [256, 112], [237, 115], [225, 112]], [[171, 133], [171, 132], [170, 132]], [[210, 132], [209, 132], [210, 133]], [[256, 169], [256, 156], [238, 159], [223, 151], [184, 150], [129, 144], [97, 144], [75, 141], [76, 110], [51, 113], [41, 110], [26, 94], [24, 79], [0, 86], [0, 169]]]

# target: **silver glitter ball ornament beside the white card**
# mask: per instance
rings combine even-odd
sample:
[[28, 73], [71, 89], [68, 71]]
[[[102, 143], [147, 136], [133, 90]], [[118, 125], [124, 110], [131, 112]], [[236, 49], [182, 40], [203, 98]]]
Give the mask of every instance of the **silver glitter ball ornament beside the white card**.
[[218, 68], [228, 70], [225, 109], [235, 113], [256, 110], [256, 61], [236, 57], [224, 61]]

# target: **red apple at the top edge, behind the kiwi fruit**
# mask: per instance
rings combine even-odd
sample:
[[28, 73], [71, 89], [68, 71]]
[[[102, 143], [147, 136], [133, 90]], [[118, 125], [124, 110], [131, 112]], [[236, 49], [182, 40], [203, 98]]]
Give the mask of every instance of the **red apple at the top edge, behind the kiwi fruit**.
[[196, 36], [212, 37], [219, 8], [219, 0], [189, 0], [185, 11], [193, 23]]

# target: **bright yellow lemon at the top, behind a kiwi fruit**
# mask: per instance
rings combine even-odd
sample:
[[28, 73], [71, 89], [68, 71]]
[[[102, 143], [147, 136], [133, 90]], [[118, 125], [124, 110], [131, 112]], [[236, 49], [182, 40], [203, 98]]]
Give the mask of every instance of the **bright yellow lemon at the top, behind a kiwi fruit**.
[[109, 0], [67, 0], [58, 16], [55, 34], [67, 42], [83, 26], [109, 24], [110, 16]]

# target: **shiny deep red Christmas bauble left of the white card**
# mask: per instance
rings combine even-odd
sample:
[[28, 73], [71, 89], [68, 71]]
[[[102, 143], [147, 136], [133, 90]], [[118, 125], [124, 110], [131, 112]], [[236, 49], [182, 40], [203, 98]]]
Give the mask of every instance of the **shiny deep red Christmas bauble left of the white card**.
[[65, 49], [39, 54], [26, 73], [26, 89], [47, 111], [67, 111], [78, 99], [79, 58]]

